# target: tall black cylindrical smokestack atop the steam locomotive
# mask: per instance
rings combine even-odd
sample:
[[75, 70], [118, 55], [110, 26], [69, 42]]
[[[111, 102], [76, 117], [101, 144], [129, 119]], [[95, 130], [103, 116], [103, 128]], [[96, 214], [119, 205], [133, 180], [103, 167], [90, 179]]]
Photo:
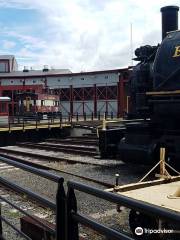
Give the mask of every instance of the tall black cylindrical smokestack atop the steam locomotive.
[[166, 6], [161, 8], [162, 12], [162, 39], [167, 32], [178, 30], [178, 11], [177, 6]]

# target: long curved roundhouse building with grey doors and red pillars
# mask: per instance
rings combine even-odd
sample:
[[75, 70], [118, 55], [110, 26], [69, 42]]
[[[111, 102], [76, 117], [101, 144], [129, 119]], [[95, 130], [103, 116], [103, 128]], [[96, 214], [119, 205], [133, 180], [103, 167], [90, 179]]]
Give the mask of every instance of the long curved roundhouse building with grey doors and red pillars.
[[77, 113], [97, 116], [105, 112], [121, 116], [128, 111], [128, 78], [128, 68], [72, 73], [68, 69], [54, 70], [44, 66], [42, 70], [24, 68], [18, 71], [13, 56], [9, 59], [8, 56], [0, 56], [0, 96], [12, 99], [12, 114], [16, 93], [32, 91], [58, 95], [64, 116], [75, 116]]

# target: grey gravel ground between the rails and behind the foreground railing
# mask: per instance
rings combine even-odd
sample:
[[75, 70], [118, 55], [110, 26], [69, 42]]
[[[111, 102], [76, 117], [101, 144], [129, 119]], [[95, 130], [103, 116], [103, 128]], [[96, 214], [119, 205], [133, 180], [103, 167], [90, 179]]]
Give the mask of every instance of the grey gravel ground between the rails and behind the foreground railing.
[[[57, 145], [57, 144], [54, 144]], [[37, 153], [44, 156], [52, 156], [52, 157], [59, 157], [59, 158], [66, 158], [66, 159], [72, 159], [74, 161], [82, 161], [89, 163], [87, 165], [76, 163], [76, 164], [68, 164], [65, 162], [47, 162], [43, 160], [38, 159], [31, 159], [30, 157], [24, 157], [23, 159], [26, 159], [28, 161], [35, 161], [35, 162], [41, 162], [49, 167], [67, 171], [73, 174], [77, 174], [80, 176], [86, 176], [89, 178], [93, 178], [102, 182], [107, 182], [110, 184], [115, 183], [115, 174], [119, 174], [119, 184], [127, 184], [132, 182], [137, 182], [145, 172], [147, 172], [146, 166], [138, 167], [136, 165], [126, 165], [123, 162], [119, 160], [111, 160], [111, 159], [95, 159], [94, 157], [90, 156], [80, 156], [80, 155], [72, 155], [63, 152], [53, 152], [53, 151], [47, 151], [47, 150], [38, 150], [38, 149], [30, 149], [20, 146], [8, 146], [8, 147], [2, 147], [5, 149], [12, 149], [12, 150], [18, 150], [22, 152], [30, 152], [30, 153]], [[93, 147], [94, 148], [94, 147]], [[11, 153], [12, 154], [12, 153]], [[19, 156], [19, 155], [18, 155]], [[91, 163], [99, 164], [99, 166], [91, 165]], [[65, 191], [67, 192], [67, 182], [70, 180], [75, 180], [81, 183], [88, 184], [90, 186], [94, 186], [100, 189], [105, 189], [104, 186], [100, 184], [96, 184], [90, 181], [85, 181], [79, 177], [74, 177], [69, 174], [57, 172], [57, 171], [51, 171], [52, 173], [55, 173], [57, 175], [62, 176], [65, 179], [64, 187]], [[1, 176], [13, 180], [14, 183], [31, 189], [34, 192], [37, 192], [38, 194], [45, 196], [55, 202], [56, 197], [56, 191], [57, 191], [57, 184], [44, 179], [42, 177], [36, 176], [32, 173], [25, 172], [23, 170], [14, 168], [11, 169], [11, 171], [1, 171]], [[112, 227], [116, 230], [122, 230], [125, 232], [130, 233], [130, 229], [128, 227], [128, 214], [129, 210], [125, 209], [123, 212], [118, 213], [116, 211], [116, 205], [111, 204], [105, 200], [96, 198], [92, 195], [88, 195], [79, 191], [75, 191], [75, 195], [77, 198], [77, 207], [78, 211], [85, 214], [86, 216], [89, 216], [95, 220], [97, 220], [100, 223], [103, 223], [109, 227]], [[49, 220], [50, 222], [54, 222], [54, 214], [50, 210], [42, 209], [39, 206], [35, 206], [34, 203], [31, 203], [30, 201], [22, 201], [20, 200], [20, 196], [11, 196], [11, 194], [8, 196], [13, 202], [16, 202], [23, 205], [25, 204], [28, 211], [30, 211], [32, 214], [42, 214], [42, 217]], [[27, 199], [26, 199], [27, 200]], [[37, 211], [34, 211], [34, 209], [37, 209]], [[9, 214], [9, 211], [11, 210], [11, 213]], [[13, 223], [19, 226], [19, 217], [20, 214], [18, 212], [13, 212], [12, 209], [9, 209], [6, 205], [3, 206], [3, 213], [7, 217], [13, 217]], [[10, 232], [10, 229], [8, 227], [5, 228], [5, 231], [7, 231], [7, 235]], [[18, 236], [14, 235], [12, 238], [12, 232], [10, 233], [10, 237], [8, 239], [19, 239]], [[87, 240], [101, 240], [106, 239], [97, 233], [95, 233], [93, 230], [90, 230], [88, 228], [80, 226], [80, 232], [83, 235], [83, 237]]]

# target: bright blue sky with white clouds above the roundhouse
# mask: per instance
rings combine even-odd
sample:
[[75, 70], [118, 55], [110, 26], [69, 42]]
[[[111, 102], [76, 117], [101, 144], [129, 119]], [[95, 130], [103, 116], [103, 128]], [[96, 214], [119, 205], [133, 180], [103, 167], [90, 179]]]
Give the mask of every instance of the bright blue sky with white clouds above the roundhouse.
[[176, 0], [0, 0], [0, 54], [15, 55], [19, 69], [48, 65], [80, 72], [127, 67], [137, 47], [161, 42], [160, 8], [178, 4]]

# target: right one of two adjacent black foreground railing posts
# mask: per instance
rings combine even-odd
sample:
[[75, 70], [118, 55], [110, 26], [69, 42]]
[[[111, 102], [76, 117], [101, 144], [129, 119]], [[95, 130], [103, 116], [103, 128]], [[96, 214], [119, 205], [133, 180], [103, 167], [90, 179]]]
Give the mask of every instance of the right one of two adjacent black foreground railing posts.
[[67, 192], [67, 235], [66, 240], [79, 240], [78, 222], [72, 218], [73, 213], [77, 213], [77, 200], [73, 188], [68, 188]]

